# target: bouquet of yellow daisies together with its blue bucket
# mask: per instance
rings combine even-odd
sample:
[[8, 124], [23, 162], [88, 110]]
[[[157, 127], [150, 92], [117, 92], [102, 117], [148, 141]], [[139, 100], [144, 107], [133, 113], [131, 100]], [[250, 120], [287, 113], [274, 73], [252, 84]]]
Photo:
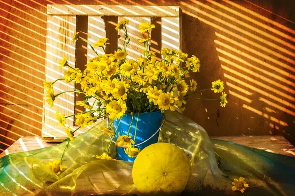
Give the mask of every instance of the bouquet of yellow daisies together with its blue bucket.
[[[188, 79], [190, 72], [199, 72], [200, 61], [196, 56], [188, 57], [188, 54], [181, 50], [163, 48], [161, 49], [163, 58], [161, 61], [156, 60], [155, 52], [149, 50], [151, 43], [149, 35], [155, 27], [150, 23], [141, 23], [139, 25], [139, 30], [147, 35], [146, 38], [139, 40], [139, 43], [144, 46], [143, 54], [137, 60], [127, 59], [126, 48], [130, 42], [126, 28], [128, 23], [129, 20], [124, 19], [116, 27], [116, 30], [124, 31], [125, 39], [123, 48], [118, 48], [114, 54], [105, 52], [104, 55], [101, 55], [97, 53], [95, 48], [101, 47], [105, 51], [105, 46], [109, 44], [107, 38], [100, 38], [93, 46], [89, 44], [97, 56], [89, 60], [84, 71], [72, 68], [67, 63], [66, 56], [59, 63], [60, 68], [67, 67], [68, 69], [64, 71], [64, 78], [58, 80], [74, 81], [81, 84], [82, 91], [74, 89], [66, 92], [85, 94], [85, 100], [76, 102], [76, 105], [84, 106], [87, 109], [85, 112], [74, 114], [76, 115], [75, 123], [79, 125], [79, 128], [91, 125], [98, 119], [105, 117], [110, 119], [108, 127], [100, 127], [105, 134], [111, 137], [111, 141], [106, 152], [97, 155], [98, 159], [112, 159], [109, 154], [112, 143], [115, 143], [118, 147], [119, 158], [122, 158], [120, 157], [123, 156], [122, 153], [126, 157], [136, 157], [140, 150], [145, 147], [136, 145], [136, 143], [141, 142], [143, 144], [144, 140], [147, 139], [150, 139], [149, 143], [157, 142], [158, 135], [155, 135], [155, 132], [163, 124], [161, 123], [162, 116], [166, 110], [183, 111], [186, 102], [205, 99], [195, 98], [189, 100], [190, 95], [212, 90], [214, 93], [222, 93], [222, 95], [220, 98], [207, 100], [219, 100], [221, 107], [225, 107], [227, 103], [222, 81], [214, 81], [211, 88], [196, 91], [197, 82]], [[78, 39], [87, 42], [75, 32], [73, 42]], [[54, 93], [53, 84], [56, 81], [44, 81], [47, 94], [46, 101], [51, 106], [53, 106], [54, 100], [60, 94], [66, 93]], [[89, 104], [90, 98], [95, 100], [91, 105]], [[94, 109], [94, 106], [97, 109]], [[141, 116], [144, 118], [144, 114], [155, 114], [156, 117], [145, 117], [148, 119], [145, 122], [140, 118]], [[57, 112], [57, 119], [61, 126], [65, 126], [65, 119], [68, 117], [70, 116], [65, 117], [65, 115]], [[127, 120], [124, 119], [125, 117]], [[158, 119], [157, 122], [152, 122], [151, 119], [155, 118]], [[112, 129], [113, 123], [114, 130]], [[151, 125], [154, 125], [154, 127], [151, 128]], [[144, 126], [146, 130], [140, 128]], [[65, 129], [66, 134], [69, 136], [68, 142], [74, 140], [75, 131], [71, 131], [68, 127]], [[137, 137], [137, 134], [143, 134], [143, 132], [151, 133], [148, 134], [147, 138], [142, 138], [139, 135]], [[117, 140], [115, 141], [116, 136]]]

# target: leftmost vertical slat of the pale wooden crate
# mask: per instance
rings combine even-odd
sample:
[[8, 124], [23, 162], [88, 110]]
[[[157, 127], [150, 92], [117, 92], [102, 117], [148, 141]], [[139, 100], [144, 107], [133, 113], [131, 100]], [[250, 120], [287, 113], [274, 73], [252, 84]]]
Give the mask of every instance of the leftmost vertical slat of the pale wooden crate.
[[[59, 69], [59, 61], [67, 56], [68, 64], [75, 67], [75, 44], [72, 43], [73, 33], [76, 30], [76, 17], [74, 16], [48, 16], [47, 42], [46, 42], [46, 80], [54, 81], [63, 77], [68, 68]], [[72, 91], [74, 82], [65, 83], [64, 80], [54, 84], [55, 94], [63, 91]], [[46, 98], [44, 98], [46, 99]], [[45, 103], [45, 101], [44, 101]], [[56, 111], [65, 116], [74, 112], [74, 95], [65, 93], [54, 101], [54, 107], [44, 104], [44, 126], [58, 126]], [[66, 124], [73, 126], [73, 118], [67, 118]]]

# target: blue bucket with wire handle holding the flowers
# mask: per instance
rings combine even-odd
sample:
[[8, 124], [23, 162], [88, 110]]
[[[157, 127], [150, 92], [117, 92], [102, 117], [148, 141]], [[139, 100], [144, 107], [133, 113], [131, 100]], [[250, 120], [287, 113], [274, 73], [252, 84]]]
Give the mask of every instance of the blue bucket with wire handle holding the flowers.
[[[129, 136], [132, 136], [133, 140], [134, 140], [137, 115], [138, 113], [134, 114], [133, 123], [129, 132]], [[162, 123], [162, 117], [163, 117], [163, 113], [161, 111], [139, 113], [135, 145], [145, 142], [160, 128]], [[123, 116], [121, 123], [119, 124], [119, 127], [118, 127], [119, 119], [116, 119], [114, 121], [115, 130], [118, 127], [116, 138], [118, 138], [118, 133], [120, 133], [120, 135], [127, 135], [129, 126], [131, 124], [131, 120], [132, 120], [132, 115], [128, 113]], [[138, 145], [136, 147], [140, 148], [140, 150], [143, 150], [145, 147], [151, 144], [157, 143], [158, 138], [159, 138], [159, 132], [147, 142], [141, 145]], [[136, 157], [129, 157], [125, 153], [124, 148], [122, 147], [117, 147], [117, 150], [118, 150], [118, 160], [133, 162], [136, 158]]]

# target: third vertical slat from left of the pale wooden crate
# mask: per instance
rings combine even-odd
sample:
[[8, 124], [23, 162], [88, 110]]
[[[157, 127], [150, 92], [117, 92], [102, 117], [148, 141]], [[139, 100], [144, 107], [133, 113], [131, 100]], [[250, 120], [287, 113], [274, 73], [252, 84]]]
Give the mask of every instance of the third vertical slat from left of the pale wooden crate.
[[[147, 38], [147, 35], [142, 33], [138, 27], [140, 23], [147, 23], [150, 22], [150, 17], [118, 17], [118, 21], [121, 21], [122, 19], [128, 19], [129, 24], [127, 25], [127, 32], [128, 36], [130, 38], [130, 43], [127, 46], [127, 59], [134, 59], [136, 60], [137, 58], [140, 57], [140, 55], [143, 55], [143, 49], [144, 45], [140, 44], [138, 40], [142, 38]], [[150, 35], [149, 35], [150, 36]], [[120, 30], [118, 32], [118, 47], [123, 49], [123, 42], [125, 38], [125, 33], [123, 30]]]

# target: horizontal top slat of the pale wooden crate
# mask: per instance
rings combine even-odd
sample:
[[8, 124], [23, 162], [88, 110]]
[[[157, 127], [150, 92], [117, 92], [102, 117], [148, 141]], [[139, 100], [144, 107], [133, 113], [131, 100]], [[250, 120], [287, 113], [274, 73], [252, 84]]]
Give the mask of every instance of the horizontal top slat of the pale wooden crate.
[[89, 16], [159, 16], [178, 17], [176, 6], [134, 6], [134, 5], [48, 5], [49, 15], [89, 15]]

